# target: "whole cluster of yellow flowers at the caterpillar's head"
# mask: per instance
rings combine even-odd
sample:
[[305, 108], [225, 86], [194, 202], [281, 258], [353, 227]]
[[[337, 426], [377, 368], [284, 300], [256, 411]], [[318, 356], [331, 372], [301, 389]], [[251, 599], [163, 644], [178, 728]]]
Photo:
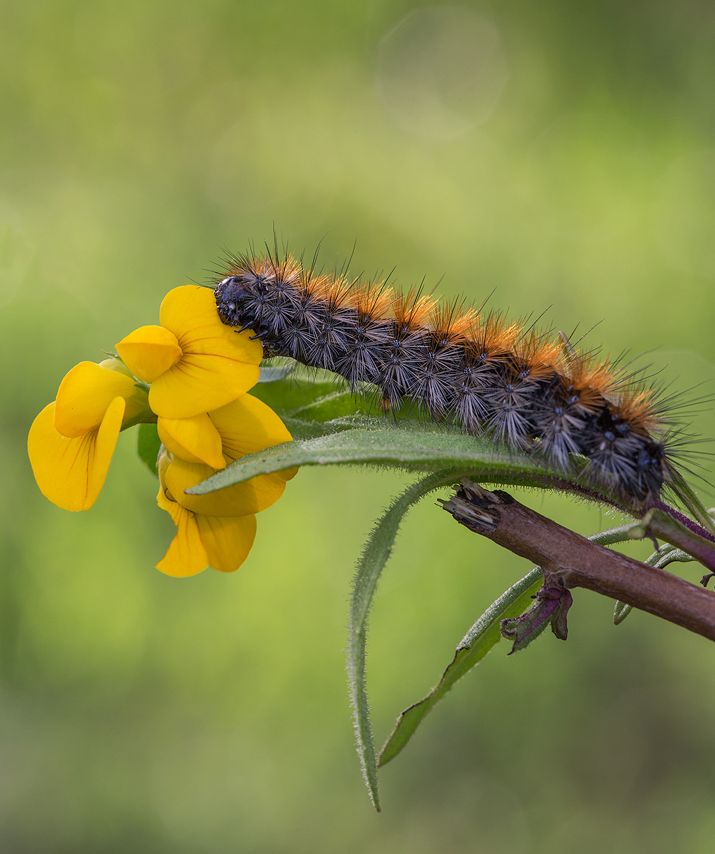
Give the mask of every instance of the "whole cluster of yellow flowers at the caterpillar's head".
[[116, 349], [98, 365], [74, 366], [35, 418], [27, 448], [39, 488], [66, 510], [89, 510], [120, 430], [155, 423], [157, 503], [177, 525], [157, 568], [171, 576], [238, 569], [253, 546], [255, 514], [281, 497], [295, 470], [206, 495], [185, 490], [247, 453], [291, 441], [276, 413], [247, 394], [259, 379], [259, 341], [221, 323], [212, 290], [184, 285], [162, 301], [160, 325], [134, 330]]

